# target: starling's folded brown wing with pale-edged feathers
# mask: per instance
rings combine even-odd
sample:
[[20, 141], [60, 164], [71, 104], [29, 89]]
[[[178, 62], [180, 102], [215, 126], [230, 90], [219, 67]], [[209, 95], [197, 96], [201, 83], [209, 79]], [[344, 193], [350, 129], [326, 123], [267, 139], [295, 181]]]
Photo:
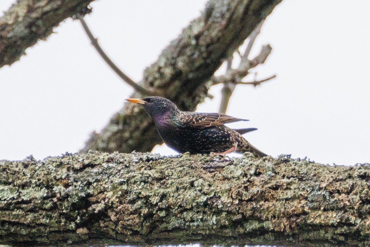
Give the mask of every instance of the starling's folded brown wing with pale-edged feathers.
[[247, 119], [234, 118], [222, 113], [199, 113], [199, 112], [182, 112], [181, 122], [186, 122], [192, 127], [203, 129], [211, 126], [223, 125], [237, 121], [249, 121]]

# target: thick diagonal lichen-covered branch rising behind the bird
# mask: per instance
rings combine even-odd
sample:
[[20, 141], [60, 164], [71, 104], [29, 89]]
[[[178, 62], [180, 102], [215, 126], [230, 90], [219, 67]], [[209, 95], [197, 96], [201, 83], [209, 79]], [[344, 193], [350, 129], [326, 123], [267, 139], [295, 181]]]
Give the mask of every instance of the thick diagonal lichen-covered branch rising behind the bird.
[[[194, 111], [208, 92], [209, 78], [281, 0], [210, 0], [201, 16], [168, 45], [144, 72], [140, 84], [155, 88], [184, 111]], [[143, 95], [134, 93], [132, 98]], [[126, 103], [82, 152], [148, 152], [162, 143], [149, 115]]]

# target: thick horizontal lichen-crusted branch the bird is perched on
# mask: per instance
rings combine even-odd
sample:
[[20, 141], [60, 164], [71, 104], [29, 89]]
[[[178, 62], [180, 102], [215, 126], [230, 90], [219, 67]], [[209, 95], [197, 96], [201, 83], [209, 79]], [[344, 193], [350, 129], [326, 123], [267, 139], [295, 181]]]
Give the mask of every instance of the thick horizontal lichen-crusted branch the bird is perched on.
[[0, 170], [0, 244], [370, 245], [369, 164], [90, 152]]

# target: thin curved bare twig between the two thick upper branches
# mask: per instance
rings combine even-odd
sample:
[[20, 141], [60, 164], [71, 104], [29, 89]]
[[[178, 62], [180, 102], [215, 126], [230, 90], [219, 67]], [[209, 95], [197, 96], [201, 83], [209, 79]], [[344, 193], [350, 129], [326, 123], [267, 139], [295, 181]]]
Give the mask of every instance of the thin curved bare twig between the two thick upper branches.
[[119, 75], [122, 80], [124, 80], [128, 85], [130, 85], [132, 88], [135, 89], [135, 91], [139, 92], [142, 95], [160, 95], [157, 91], [148, 90], [143, 87], [141, 87], [139, 84], [137, 84], [135, 81], [133, 81], [131, 78], [128, 77], [124, 72], [120, 70], [120, 68], [117, 67], [117, 65], [114, 64], [114, 62], [107, 56], [107, 54], [104, 53], [102, 48], [100, 47], [98, 40], [92, 35], [90, 29], [88, 28], [83, 16], [77, 15], [77, 18], [80, 20], [87, 36], [89, 37], [92, 46], [98, 51], [99, 55], [103, 58], [103, 60], [111, 67], [111, 69], [116, 72], [117, 75]]

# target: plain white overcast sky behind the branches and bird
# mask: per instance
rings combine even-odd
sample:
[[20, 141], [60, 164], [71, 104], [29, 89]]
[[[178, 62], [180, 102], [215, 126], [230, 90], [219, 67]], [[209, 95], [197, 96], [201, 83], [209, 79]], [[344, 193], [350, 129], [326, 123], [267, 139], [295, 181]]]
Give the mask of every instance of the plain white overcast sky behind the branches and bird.
[[[14, 0], [1, 0], [5, 11]], [[116, 64], [135, 81], [205, 1], [119, 1], [91, 4], [85, 18]], [[320, 163], [370, 162], [370, 1], [283, 0], [263, 25], [272, 54], [253, 70], [260, 87], [238, 86], [227, 114], [232, 125], [272, 156], [307, 156]], [[77, 152], [132, 93], [101, 60], [81, 24], [68, 19], [27, 55], [0, 69], [0, 159], [36, 159]], [[253, 77], [251, 76], [252, 80]], [[197, 111], [215, 112], [221, 86]], [[148, 116], [149, 117], [149, 116]], [[153, 152], [175, 154], [164, 147]]]

